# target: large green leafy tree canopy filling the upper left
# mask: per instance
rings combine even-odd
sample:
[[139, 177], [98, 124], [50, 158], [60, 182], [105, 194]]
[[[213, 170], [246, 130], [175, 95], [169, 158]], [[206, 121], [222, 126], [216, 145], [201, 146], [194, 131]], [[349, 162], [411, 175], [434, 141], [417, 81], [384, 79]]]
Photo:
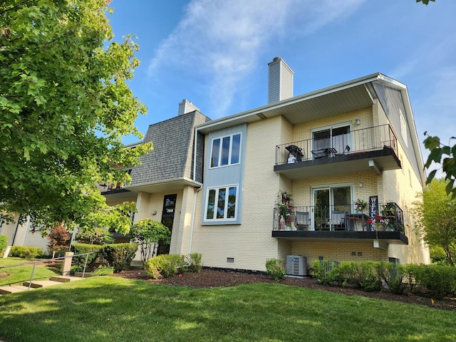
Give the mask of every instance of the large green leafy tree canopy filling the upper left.
[[105, 205], [96, 183], [150, 149], [122, 137], [146, 108], [126, 81], [139, 61], [113, 33], [103, 0], [0, 2], [0, 209], [79, 221]]

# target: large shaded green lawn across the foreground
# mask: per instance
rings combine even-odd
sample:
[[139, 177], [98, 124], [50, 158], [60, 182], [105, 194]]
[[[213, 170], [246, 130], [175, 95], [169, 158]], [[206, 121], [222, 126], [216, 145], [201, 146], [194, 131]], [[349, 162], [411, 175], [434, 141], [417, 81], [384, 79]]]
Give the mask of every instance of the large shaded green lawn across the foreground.
[[0, 340], [456, 341], [456, 312], [280, 284], [190, 289], [110, 276], [0, 296]]

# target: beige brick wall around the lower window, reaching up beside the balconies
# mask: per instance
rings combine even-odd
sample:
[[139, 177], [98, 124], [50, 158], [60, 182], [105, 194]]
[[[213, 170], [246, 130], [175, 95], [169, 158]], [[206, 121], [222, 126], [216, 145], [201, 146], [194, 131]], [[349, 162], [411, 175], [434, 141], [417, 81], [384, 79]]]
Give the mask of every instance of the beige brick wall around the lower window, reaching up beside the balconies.
[[[292, 125], [281, 117], [249, 124], [246, 177], [241, 189], [242, 224], [201, 226], [204, 194], [199, 192], [192, 251], [202, 253], [205, 266], [264, 270], [266, 259], [291, 251], [291, 243], [278, 242], [271, 237], [271, 231], [277, 193], [291, 190], [291, 181], [273, 171], [276, 145], [289, 141], [292, 130]], [[234, 262], [227, 262], [227, 258], [234, 258]]]

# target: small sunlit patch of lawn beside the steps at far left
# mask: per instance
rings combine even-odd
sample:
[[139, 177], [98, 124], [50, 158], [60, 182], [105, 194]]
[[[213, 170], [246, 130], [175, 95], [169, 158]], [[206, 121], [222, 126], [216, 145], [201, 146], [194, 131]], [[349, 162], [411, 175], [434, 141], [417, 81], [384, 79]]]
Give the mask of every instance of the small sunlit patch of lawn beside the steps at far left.
[[[5, 259], [0, 259], [0, 267], [14, 264], [22, 264], [28, 261], [33, 260], [9, 257]], [[0, 268], [0, 275], [8, 274], [7, 277], [0, 276], [0, 286], [22, 284], [24, 283], [24, 281], [29, 281], [32, 270], [33, 264], [9, 267], [6, 269]], [[55, 267], [37, 266], [35, 268], [35, 271], [33, 272], [33, 280], [48, 280], [49, 278], [51, 278], [51, 276], [56, 276], [57, 274], [58, 270]]]

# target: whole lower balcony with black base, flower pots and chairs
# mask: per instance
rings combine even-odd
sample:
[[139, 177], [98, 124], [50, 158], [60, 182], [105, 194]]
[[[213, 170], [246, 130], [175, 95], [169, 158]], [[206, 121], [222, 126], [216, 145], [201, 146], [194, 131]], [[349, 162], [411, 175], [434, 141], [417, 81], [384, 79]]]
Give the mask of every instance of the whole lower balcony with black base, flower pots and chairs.
[[394, 202], [379, 204], [378, 207], [379, 211], [372, 215], [356, 211], [353, 204], [275, 207], [272, 237], [314, 242], [364, 240], [383, 246], [408, 244], [402, 209]]

